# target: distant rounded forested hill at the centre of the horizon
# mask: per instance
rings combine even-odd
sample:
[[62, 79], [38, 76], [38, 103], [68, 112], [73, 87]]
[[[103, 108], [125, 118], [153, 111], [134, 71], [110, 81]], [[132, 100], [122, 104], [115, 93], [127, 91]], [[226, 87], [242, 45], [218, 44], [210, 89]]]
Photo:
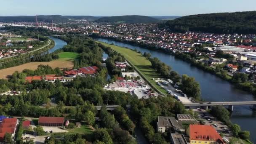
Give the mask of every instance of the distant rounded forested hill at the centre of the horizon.
[[155, 19], [149, 16], [110, 16], [110, 17], [103, 17], [96, 22], [123, 22], [123, 23], [157, 23], [161, 20]]

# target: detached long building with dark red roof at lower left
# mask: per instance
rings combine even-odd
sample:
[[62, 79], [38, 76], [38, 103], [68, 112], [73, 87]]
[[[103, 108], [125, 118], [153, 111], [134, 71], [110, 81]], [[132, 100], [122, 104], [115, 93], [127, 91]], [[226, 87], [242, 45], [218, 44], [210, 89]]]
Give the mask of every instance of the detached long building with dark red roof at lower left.
[[64, 117], [39, 117], [38, 124], [42, 126], [62, 126]]

